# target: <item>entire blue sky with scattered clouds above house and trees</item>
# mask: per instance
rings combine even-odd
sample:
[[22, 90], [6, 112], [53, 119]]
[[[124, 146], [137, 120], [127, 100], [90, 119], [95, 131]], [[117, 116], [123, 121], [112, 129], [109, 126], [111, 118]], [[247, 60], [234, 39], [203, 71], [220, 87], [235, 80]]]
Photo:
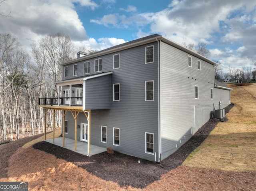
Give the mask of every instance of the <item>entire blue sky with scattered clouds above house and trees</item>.
[[96, 50], [158, 33], [206, 43], [224, 72], [256, 63], [256, 0], [6, 0], [0, 12], [11, 15], [0, 16], [0, 33], [15, 35], [28, 51], [58, 32]]

